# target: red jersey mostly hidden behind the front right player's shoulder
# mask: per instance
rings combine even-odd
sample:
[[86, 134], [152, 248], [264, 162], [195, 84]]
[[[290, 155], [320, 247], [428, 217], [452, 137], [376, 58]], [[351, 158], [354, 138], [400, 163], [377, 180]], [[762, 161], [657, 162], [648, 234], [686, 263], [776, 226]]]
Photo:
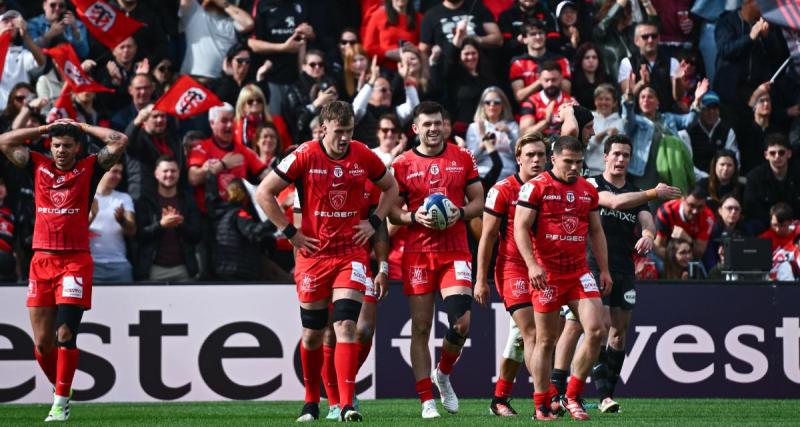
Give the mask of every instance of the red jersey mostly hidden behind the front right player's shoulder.
[[514, 212], [517, 210], [522, 179], [514, 174], [495, 184], [486, 194], [483, 211], [501, 219], [500, 244], [497, 248], [496, 270], [502, 271], [506, 263], [525, 265], [525, 260], [514, 241]]

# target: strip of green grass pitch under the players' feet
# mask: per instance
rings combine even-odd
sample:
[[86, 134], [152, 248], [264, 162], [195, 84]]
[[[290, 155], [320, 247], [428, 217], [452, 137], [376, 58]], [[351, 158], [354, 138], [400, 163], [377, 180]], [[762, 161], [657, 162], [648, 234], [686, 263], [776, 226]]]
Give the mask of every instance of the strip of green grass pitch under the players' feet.
[[[614, 425], [800, 425], [798, 400], [735, 399], [620, 399], [622, 413], [601, 414], [589, 409], [594, 424]], [[520, 412], [514, 418], [488, 415], [489, 400], [463, 399], [457, 415], [439, 405], [438, 420], [420, 418], [419, 402], [412, 399], [365, 400], [361, 403], [364, 422], [387, 426], [422, 424], [448, 426], [538, 424], [530, 419], [533, 405], [516, 399]], [[214, 402], [214, 403], [81, 403], [72, 405], [69, 424], [80, 426], [278, 426], [296, 425], [300, 402]], [[321, 405], [323, 416], [327, 406]], [[48, 405], [0, 405], [0, 426], [42, 425]], [[314, 425], [332, 425], [320, 420]], [[555, 424], [574, 423], [562, 418]]]

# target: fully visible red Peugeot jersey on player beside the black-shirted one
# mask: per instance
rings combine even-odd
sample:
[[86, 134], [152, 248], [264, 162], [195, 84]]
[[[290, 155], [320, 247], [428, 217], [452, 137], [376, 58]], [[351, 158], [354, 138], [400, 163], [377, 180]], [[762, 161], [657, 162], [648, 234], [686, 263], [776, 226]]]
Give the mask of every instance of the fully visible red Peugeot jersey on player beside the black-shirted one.
[[519, 190], [519, 206], [535, 209], [534, 253], [547, 273], [570, 274], [588, 269], [586, 239], [589, 212], [597, 210], [597, 189], [583, 177], [562, 181], [551, 171], [539, 174]]

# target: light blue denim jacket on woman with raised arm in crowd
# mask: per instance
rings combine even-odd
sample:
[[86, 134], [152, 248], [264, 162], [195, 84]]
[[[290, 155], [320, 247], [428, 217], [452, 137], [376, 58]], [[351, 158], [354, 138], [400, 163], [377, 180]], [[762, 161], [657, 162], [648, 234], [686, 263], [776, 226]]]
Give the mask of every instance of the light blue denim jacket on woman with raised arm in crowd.
[[[667, 130], [677, 136], [678, 131], [689, 127], [696, 117], [697, 113], [690, 111], [688, 114], [658, 113], [657, 119], [664, 124]], [[622, 100], [622, 119], [625, 121], [625, 135], [628, 135], [633, 142], [628, 173], [643, 176], [644, 170], [648, 166], [647, 158], [650, 155], [650, 147], [653, 145], [655, 124], [647, 117], [636, 114], [633, 101], [626, 101], [624, 98]], [[650, 165], [650, 167], [655, 167], [655, 165]]]

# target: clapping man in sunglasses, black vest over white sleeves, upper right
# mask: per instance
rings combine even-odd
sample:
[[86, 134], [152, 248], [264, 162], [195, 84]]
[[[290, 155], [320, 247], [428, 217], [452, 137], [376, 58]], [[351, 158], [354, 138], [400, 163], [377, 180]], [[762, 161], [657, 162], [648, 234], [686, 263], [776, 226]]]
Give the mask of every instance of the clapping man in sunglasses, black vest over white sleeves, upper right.
[[681, 66], [678, 60], [669, 56], [658, 46], [660, 33], [658, 25], [641, 22], [634, 31], [634, 43], [638, 50], [619, 63], [619, 82], [624, 92], [628, 76], [636, 75], [637, 80], [645, 80], [661, 102], [661, 111], [677, 112], [676, 101], [683, 98], [684, 88], [681, 80]]

